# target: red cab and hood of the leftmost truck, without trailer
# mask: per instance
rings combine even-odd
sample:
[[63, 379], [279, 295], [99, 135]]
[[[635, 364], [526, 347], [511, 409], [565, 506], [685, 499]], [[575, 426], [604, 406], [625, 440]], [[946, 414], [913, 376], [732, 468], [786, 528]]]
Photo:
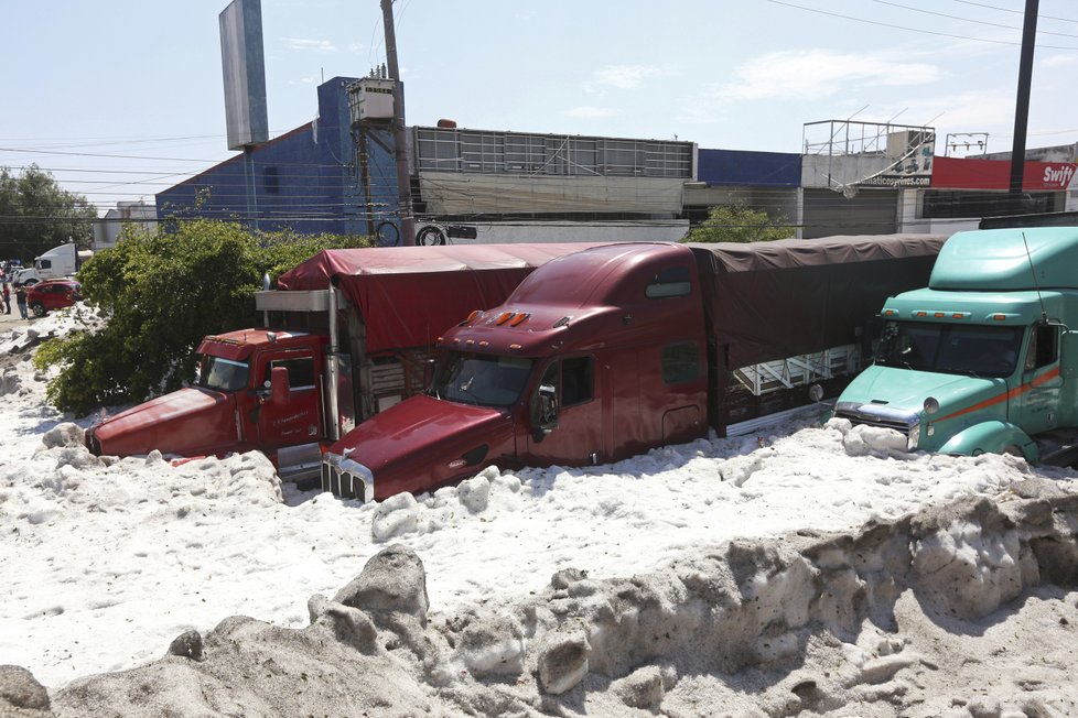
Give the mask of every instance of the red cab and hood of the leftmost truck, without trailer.
[[208, 336], [198, 346], [195, 385], [98, 424], [87, 445], [116, 456], [148, 446], [185, 457], [260, 448], [274, 461], [278, 449], [301, 446], [316, 463], [326, 442], [321, 367], [327, 341], [319, 333], [266, 328]]

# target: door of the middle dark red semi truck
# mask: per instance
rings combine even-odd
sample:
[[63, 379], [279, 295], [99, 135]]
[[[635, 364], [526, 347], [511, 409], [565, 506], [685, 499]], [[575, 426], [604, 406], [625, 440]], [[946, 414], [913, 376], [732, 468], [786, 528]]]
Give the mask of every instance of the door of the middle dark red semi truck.
[[[595, 358], [572, 357], [551, 361], [542, 372], [540, 387], [553, 387], [558, 396], [558, 426], [545, 435], [527, 438], [525, 464], [586, 466], [608, 460], [604, 446], [603, 402], [596, 393]], [[538, 425], [539, 387], [531, 395], [530, 422]]]

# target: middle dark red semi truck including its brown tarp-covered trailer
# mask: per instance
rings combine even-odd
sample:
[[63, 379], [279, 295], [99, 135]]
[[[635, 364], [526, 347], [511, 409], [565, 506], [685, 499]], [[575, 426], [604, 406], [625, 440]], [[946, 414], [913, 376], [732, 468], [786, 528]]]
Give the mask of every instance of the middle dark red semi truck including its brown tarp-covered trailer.
[[[346, 498], [419, 493], [485, 466], [606, 464], [834, 395], [883, 300], [942, 236], [617, 243], [553, 259], [446, 325], [430, 388], [324, 454]], [[487, 305], [494, 306], [494, 305]], [[477, 305], [476, 309], [482, 308]]]

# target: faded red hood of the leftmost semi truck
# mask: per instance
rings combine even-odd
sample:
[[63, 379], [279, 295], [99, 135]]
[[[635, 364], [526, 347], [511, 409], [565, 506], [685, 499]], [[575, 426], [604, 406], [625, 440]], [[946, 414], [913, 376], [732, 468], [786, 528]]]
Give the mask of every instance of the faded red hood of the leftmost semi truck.
[[95, 454], [203, 456], [238, 448], [239, 417], [233, 395], [190, 388], [158, 396], [94, 426], [87, 444]]

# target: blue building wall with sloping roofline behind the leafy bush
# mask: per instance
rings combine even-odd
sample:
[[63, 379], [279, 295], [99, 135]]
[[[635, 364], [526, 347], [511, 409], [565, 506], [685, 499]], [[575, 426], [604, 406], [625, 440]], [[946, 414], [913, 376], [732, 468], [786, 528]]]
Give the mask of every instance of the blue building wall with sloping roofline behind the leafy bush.
[[352, 81], [335, 77], [319, 87], [316, 121], [159, 193], [158, 217], [236, 220], [268, 231], [367, 233], [357, 214], [346, 89]]

